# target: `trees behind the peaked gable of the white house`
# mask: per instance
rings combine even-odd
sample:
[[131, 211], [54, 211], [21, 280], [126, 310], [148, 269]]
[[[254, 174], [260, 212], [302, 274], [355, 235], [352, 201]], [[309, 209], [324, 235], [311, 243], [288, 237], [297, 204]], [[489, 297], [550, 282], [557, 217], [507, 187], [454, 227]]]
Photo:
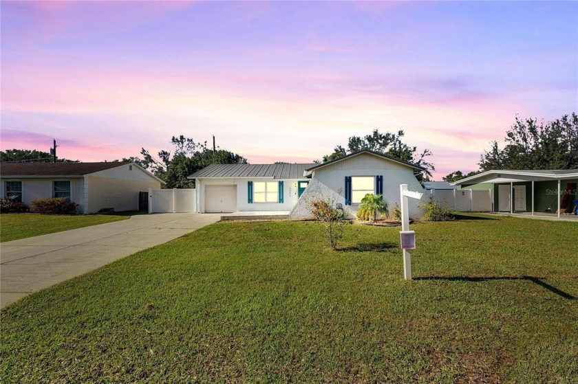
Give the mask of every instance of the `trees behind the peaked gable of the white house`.
[[436, 170], [434, 164], [426, 160], [427, 157], [431, 156], [431, 151], [425, 149], [421, 153], [418, 153], [416, 146], [409, 146], [402, 141], [404, 135], [405, 133], [403, 131], [398, 131], [397, 133], [380, 133], [375, 129], [371, 135], [363, 137], [352, 136], [349, 138], [347, 148], [336, 146], [332, 154], [323, 156], [323, 162], [339, 159], [358, 150], [368, 149], [425, 168], [423, 172], [425, 175], [420, 173], [416, 177], [420, 182], [428, 181], [429, 177], [431, 177], [431, 171]]

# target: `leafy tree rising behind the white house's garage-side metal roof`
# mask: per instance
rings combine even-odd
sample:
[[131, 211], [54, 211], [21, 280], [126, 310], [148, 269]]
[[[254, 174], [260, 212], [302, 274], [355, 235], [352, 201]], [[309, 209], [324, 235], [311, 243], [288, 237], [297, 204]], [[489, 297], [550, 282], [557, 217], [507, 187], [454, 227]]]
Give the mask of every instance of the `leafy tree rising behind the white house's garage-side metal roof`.
[[247, 159], [228, 150], [209, 149], [204, 143], [195, 143], [193, 139], [180, 135], [173, 136], [171, 144], [175, 148], [173, 155], [167, 150], [158, 153], [154, 158], [148, 150], [142, 148], [139, 159], [144, 168], [147, 168], [162, 179], [167, 188], [193, 188], [193, 180], [187, 179], [190, 174], [210, 164], [246, 164]]

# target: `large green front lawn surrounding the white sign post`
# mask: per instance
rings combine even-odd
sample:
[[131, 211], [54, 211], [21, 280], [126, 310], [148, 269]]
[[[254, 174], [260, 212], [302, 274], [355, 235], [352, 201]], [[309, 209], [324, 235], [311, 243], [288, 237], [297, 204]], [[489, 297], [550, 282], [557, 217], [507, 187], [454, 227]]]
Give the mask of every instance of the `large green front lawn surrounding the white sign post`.
[[217, 223], [1, 312], [0, 381], [576, 383], [575, 223]]

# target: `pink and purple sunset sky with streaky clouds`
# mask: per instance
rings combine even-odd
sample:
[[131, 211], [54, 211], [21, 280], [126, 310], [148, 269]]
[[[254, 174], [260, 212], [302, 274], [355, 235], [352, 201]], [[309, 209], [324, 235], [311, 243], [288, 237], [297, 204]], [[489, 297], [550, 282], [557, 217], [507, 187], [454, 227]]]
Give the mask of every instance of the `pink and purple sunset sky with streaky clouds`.
[[440, 180], [578, 111], [578, 2], [1, 1], [0, 74], [2, 150], [310, 162], [403, 129]]

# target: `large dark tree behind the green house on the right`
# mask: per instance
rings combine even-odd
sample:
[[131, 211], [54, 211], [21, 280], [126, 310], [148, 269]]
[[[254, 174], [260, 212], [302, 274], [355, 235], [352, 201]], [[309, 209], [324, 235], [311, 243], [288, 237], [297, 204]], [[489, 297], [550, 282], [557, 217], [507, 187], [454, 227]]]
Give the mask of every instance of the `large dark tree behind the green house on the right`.
[[516, 116], [506, 132], [506, 146], [497, 142], [480, 157], [481, 170], [545, 170], [578, 168], [578, 115], [552, 122]]

